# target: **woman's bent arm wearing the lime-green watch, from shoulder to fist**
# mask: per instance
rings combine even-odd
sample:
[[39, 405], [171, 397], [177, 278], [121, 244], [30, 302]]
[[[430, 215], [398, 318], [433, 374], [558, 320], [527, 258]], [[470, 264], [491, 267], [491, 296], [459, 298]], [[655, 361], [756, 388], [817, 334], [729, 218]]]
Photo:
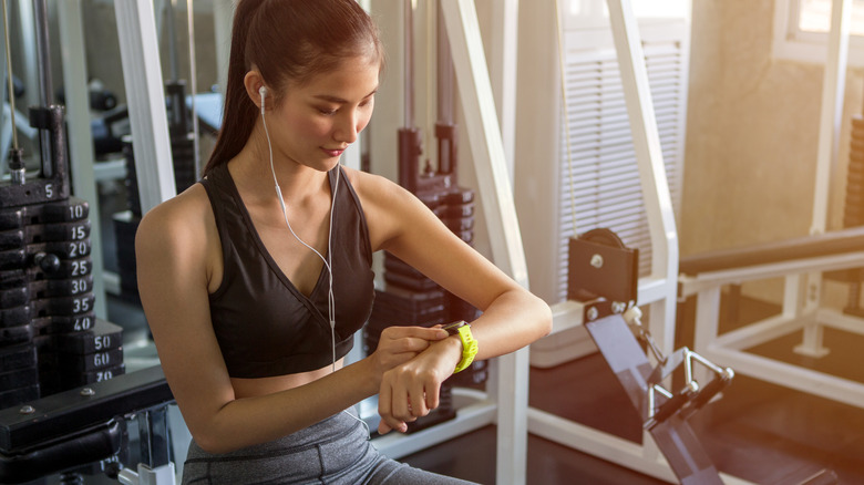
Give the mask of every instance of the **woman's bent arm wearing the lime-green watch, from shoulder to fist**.
[[[404, 188], [369, 174], [357, 178], [373, 249], [391, 252], [482, 311], [470, 322], [475, 359], [513, 352], [548, 334], [552, 312], [542, 299], [456, 237]], [[405, 422], [436, 407], [440, 384], [461, 357], [462, 342], [452, 337], [385, 373], [379, 412], [387, 425], [404, 431]]]

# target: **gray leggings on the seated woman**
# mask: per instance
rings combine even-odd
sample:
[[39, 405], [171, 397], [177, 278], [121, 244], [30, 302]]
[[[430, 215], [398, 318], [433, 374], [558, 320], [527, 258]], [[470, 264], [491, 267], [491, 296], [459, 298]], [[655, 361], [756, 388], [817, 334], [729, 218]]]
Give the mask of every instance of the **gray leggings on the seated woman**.
[[193, 441], [183, 465], [183, 484], [470, 483], [387, 458], [368, 437], [360, 422], [338, 413], [279, 440], [219, 455], [203, 451]]

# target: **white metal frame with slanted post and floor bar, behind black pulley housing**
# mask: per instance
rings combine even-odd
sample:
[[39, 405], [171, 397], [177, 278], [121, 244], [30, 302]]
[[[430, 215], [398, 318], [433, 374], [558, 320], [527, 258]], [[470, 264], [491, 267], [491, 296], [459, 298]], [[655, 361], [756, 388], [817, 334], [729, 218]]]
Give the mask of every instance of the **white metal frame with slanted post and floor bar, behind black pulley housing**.
[[[660, 349], [669, 353], [675, 343], [678, 286], [675, 214], [636, 17], [629, 0], [607, 0], [607, 3], [654, 248], [651, 274], [639, 280], [638, 301], [640, 305], [650, 303], [650, 332]], [[584, 306], [575, 301], [553, 306], [553, 332], [580, 327], [584, 323], [583, 310]], [[528, 410], [528, 431], [618, 465], [665, 481], [676, 481], [647, 433], [644, 433], [640, 445], [534, 407]], [[741, 483], [734, 477], [722, 476], [726, 483]]]

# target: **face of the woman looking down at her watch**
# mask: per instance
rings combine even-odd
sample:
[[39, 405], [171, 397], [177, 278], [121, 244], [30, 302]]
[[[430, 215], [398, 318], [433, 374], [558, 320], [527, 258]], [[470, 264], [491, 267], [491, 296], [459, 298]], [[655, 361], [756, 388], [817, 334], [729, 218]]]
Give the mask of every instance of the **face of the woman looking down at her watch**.
[[378, 90], [379, 65], [349, 58], [302, 85], [288, 83], [267, 121], [274, 148], [289, 159], [329, 171], [369, 124]]

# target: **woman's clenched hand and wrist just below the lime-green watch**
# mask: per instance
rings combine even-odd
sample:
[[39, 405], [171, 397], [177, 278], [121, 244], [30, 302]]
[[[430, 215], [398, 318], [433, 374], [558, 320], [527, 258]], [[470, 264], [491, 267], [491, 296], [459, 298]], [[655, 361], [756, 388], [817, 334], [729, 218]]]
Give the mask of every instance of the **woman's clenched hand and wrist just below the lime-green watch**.
[[381, 415], [378, 432], [385, 434], [397, 430], [404, 433], [408, 431], [407, 423], [438, 407], [441, 383], [453, 374], [460, 359], [462, 341], [444, 339], [384, 372], [378, 396], [378, 413]]

